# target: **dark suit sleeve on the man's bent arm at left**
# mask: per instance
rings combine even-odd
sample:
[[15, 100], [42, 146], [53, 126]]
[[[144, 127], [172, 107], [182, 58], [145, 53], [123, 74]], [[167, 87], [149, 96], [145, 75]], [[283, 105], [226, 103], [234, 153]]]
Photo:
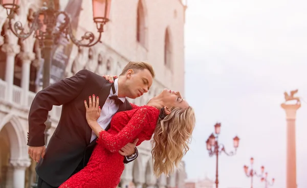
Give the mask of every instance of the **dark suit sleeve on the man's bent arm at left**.
[[80, 70], [75, 76], [60, 80], [36, 93], [29, 111], [28, 146], [45, 146], [44, 131], [48, 111], [75, 99], [82, 91], [89, 70]]

